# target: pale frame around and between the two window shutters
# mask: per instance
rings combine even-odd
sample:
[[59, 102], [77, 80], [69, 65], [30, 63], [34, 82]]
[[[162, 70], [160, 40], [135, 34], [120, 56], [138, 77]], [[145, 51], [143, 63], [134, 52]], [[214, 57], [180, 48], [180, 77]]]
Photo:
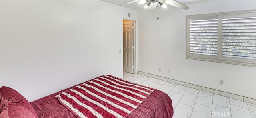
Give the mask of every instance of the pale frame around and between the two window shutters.
[[[244, 65], [250, 67], [256, 67], [256, 59], [244, 59], [236, 57], [224, 57], [222, 56], [222, 18], [225, 15], [236, 15], [236, 14], [246, 14], [255, 13], [256, 10], [243, 10], [235, 12], [221, 12], [214, 14], [198, 14], [198, 15], [187, 15], [186, 16], [186, 59], [196, 59], [201, 61], [211, 61], [218, 63], [228, 63], [234, 65]], [[200, 18], [200, 17], [218, 17], [218, 55], [202, 55], [190, 53], [190, 18]]]

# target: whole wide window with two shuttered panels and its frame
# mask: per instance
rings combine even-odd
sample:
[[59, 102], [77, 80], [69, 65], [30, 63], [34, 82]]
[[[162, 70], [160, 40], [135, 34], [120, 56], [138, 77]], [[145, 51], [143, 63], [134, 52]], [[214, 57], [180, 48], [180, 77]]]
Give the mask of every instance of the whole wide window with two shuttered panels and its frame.
[[256, 10], [186, 16], [186, 58], [256, 67]]

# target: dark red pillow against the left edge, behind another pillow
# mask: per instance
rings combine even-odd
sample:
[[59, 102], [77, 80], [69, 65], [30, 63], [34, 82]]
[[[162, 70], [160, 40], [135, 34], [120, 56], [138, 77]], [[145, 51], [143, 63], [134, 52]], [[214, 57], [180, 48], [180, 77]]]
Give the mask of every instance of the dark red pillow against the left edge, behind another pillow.
[[2, 97], [5, 100], [8, 100], [10, 102], [19, 104], [21, 106], [24, 106], [24, 108], [27, 108], [28, 110], [30, 110], [35, 116], [37, 117], [36, 111], [34, 110], [34, 108], [32, 107], [32, 105], [28, 102], [28, 100], [26, 98], [24, 98], [19, 92], [17, 92], [16, 90], [10, 88], [10, 87], [5, 87], [2, 86], [0, 88], [0, 94], [2, 95]]

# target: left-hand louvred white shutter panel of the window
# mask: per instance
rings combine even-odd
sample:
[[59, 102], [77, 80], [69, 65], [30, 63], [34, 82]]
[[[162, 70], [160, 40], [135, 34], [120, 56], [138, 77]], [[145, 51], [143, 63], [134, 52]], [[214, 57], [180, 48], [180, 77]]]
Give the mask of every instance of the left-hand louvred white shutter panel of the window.
[[190, 53], [218, 55], [218, 19], [190, 20]]

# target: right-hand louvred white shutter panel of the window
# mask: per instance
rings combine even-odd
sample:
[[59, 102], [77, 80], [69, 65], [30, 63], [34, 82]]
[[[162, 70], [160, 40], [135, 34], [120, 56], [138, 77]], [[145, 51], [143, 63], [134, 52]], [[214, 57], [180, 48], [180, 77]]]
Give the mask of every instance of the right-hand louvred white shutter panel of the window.
[[222, 19], [222, 55], [256, 59], [256, 17]]

